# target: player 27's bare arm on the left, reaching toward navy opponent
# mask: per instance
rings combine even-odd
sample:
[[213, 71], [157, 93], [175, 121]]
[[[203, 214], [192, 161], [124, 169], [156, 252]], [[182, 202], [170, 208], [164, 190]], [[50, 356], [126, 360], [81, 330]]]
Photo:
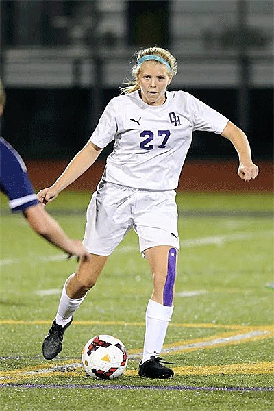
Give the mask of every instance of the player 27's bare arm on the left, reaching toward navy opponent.
[[101, 151], [102, 149], [89, 141], [83, 149], [75, 155], [55, 183], [51, 187], [43, 188], [38, 192], [38, 200], [40, 203], [47, 204], [53, 201], [64, 188], [84, 174], [95, 160], [97, 160]]

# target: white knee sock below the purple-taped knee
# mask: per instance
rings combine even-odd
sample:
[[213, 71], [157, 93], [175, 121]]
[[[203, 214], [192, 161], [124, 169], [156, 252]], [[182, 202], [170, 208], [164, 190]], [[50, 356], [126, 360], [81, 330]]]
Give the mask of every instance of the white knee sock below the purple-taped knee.
[[149, 300], [146, 311], [146, 332], [142, 363], [149, 360], [151, 356], [159, 356], [162, 351], [173, 308], [174, 306], [163, 306], [156, 303], [156, 301]]

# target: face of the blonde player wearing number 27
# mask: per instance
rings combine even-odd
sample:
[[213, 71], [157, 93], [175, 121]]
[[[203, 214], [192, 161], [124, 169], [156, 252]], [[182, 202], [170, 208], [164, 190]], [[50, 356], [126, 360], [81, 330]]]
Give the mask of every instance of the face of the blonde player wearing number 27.
[[169, 69], [164, 64], [150, 61], [142, 63], [138, 75], [142, 100], [149, 105], [164, 104], [166, 87], [171, 78]]

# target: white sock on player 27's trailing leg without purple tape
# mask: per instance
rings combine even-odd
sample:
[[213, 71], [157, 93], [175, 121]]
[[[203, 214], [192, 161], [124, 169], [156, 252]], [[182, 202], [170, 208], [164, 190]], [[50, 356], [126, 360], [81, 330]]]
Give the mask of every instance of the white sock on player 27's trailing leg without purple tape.
[[59, 302], [58, 312], [55, 317], [56, 323], [62, 325], [62, 327], [64, 327], [66, 324], [69, 323], [69, 321], [71, 321], [71, 316], [75, 313], [79, 305], [82, 303], [82, 301], [84, 301], [84, 298], [86, 297], [86, 295], [84, 295], [84, 297], [82, 298], [71, 299], [66, 294], [66, 283], [74, 275], [75, 273], [71, 274], [64, 283], [62, 295]]

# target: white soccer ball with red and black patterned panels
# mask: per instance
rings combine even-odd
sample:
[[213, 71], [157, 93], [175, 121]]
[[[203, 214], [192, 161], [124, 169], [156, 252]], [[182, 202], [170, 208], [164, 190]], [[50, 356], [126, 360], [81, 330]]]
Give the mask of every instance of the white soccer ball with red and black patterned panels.
[[90, 377], [113, 379], [127, 366], [125, 345], [113, 336], [99, 335], [88, 340], [82, 352], [84, 370]]

